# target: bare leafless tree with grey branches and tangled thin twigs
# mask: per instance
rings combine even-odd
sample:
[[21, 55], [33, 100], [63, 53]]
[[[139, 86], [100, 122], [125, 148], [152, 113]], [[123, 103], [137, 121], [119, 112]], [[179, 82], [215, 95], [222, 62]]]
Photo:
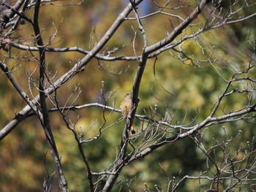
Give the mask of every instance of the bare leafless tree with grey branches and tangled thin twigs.
[[[15, 118], [10, 120], [4, 128], [1, 128], [0, 138], [12, 137], [11, 131], [18, 127], [19, 124], [31, 116], [37, 116], [42, 128], [45, 132], [45, 138], [48, 141], [48, 146], [50, 153], [55, 164], [55, 170], [59, 178], [59, 188], [61, 191], [69, 191], [67, 180], [64, 176], [64, 171], [61, 166], [61, 158], [59, 156], [58, 148], [56, 147], [55, 139], [52, 133], [52, 126], [50, 123], [50, 112], [59, 112], [62, 119], [64, 120], [67, 128], [74, 135], [75, 141], [78, 144], [78, 149], [83, 162], [87, 169], [87, 182], [90, 186], [90, 191], [111, 191], [113, 186], [116, 184], [118, 176], [121, 174], [124, 166], [128, 166], [133, 161], [138, 161], [145, 157], [146, 155], [154, 154], [154, 151], [159, 147], [164, 145], [169, 145], [170, 143], [177, 142], [180, 139], [192, 138], [195, 141], [198, 149], [206, 157], [207, 168], [205, 171], [202, 170], [198, 176], [186, 175], [181, 179], [176, 179], [176, 177], [167, 177], [167, 191], [177, 191], [179, 186], [186, 180], [197, 180], [199, 188], [206, 185], [206, 191], [229, 191], [231, 188], [239, 188], [241, 185], [250, 185], [252, 188], [255, 185], [255, 169], [256, 169], [256, 159], [255, 159], [255, 148], [242, 153], [241, 149], [238, 148], [236, 153], [229, 153], [227, 150], [227, 145], [231, 142], [236, 141], [239, 137], [240, 132], [232, 138], [223, 137], [224, 139], [214, 139], [211, 147], [206, 147], [202, 140], [204, 138], [203, 133], [207, 131], [205, 128], [210, 128], [216, 125], [224, 125], [223, 130], [225, 131], [225, 123], [235, 122], [235, 121], [246, 121], [249, 123], [255, 123], [255, 53], [247, 52], [248, 62], [244, 69], [233, 72], [230, 77], [223, 77], [221, 72], [219, 72], [216, 63], [219, 62], [214, 58], [214, 50], [207, 50], [206, 47], [198, 40], [203, 34], [208, 31], [215, 30], [217, 28], [222, 28], [233, 23], [243, 23], [246, 20], [255, 18], [256, 13], [246, 15], [238, 15], [238, 12], [244, 9], [255, 9], [256, 4], [253, 1], [229, 1], [227, 8], [222, 9], [222, 1], [208, 1], [201, 0], [197, 6], [188, 14], [186, 18], [181, 15], [173, 15], [168, 10], [170, 9], [185, 9], [189, 7], [189, 2], [180, 2], [178, 7], [172, 7], [172, 1], [165, 1], [164, 4], [160, 4], [157, 1], [151, 1], [151, 4], [157, 9], [155, 12], [150, 12], [147, 15], [141, 16], [138, 12], [138, 6], [143, 2], [143, 0], [130, 0], [127, 2], [127, 6], [123, 11], [118, 13], [118, 17], [113, 21], [112, 25], [108, 28], [108, 31], [95, 43], [91, 50], [85, 50], [80, 47], [53, 47], [52, 41], [61, 30], [61, 25], [56, 27], [56, 32], [53, 35], [49, 35], [48, 39], [42, 37], [39, 20], [39, 12], [42, 6], [47, 6], [54, 4], [57, 1], [51, 0], [18, 0], [15, 4], [10, 4], [8, 1], [1, 1], [1, 48], [5, 51], [1, 53], [0, 67], [2, 72], [6, 75], [8, 80], [10, 80], [11, 85], [17, 93], [20, 94], [23, 101], [26, 102], [26, 106], [22, 110], [16, 113]], [[70, 3], [72, 5], [72, 2]], [[240, 7], [237, 7], [239, 5]], [[79, 4], [78, 4], [79, 6]], [[29, 12], [33, 12], [29, 15]], [[195, 23], [197, 17], [200, 15], [206, 16], [206, 21], [204, 23]], [[154, 15], [169, 15], [170, 18], [175, 18], [178, 20], [178, 24], [173, 26], [173, 31], [167, 34], [165, 38], [157, 40], [157, 42], [149, 43], [147, 34], [150, 33], [148, 28], [143, 26], [143, 20], [154, 17]], [[109, 40], [113, 38], [120, 26], [124, 25], [126, 21], [132, 20], [137, 23], [138, 31], [134, 31], [134, 55], [129, 56], [118, 55], [117, 50], [104, 52], [103, 48], [108, 44]], [[198, 21], [197, 21], [198, 22]], [[31, 26], [33, 28], [33, 36], [31, 39], [26, 39], [23, 37], [12, 37], [15, 31], [18, 31], [23, 24]], [[190, 30], [189, 32], [184, 32]], [[135, 42], [138, 41], [137, 34], [143, 39], [143, 48], [138, 51], [135, 48]], [[184, 50], [184, 42], [189, 40], [194, 40], [197, 46], [200, 47], [203, 58], [196, 58]], [[249, 42], [252, 46], [252, 50], [255, 51], [255, 44]], [[19, 54], [12, 54], [11, 49], [18, 49]], [[166, 110], [166, 115], [161, 116], [158, 114], [157, 106], [151, 107], [151, 114], [139, 115], [136, 113], [138, 103], [139, 103], [139, 93], [141, 88], [141, 80], [143, 77], [143, 72], [148, 64], [149, 59], [154, 59], [154, 64], [157, 63], [157, 58], [170, 51], [174, 57], [177, 57], [183, 62], [189, 61], [197, 67], [204, 67], [204, 65], [211, 66], [215, 70], [219, 78], [222, 79], [222, 83], [225, 84], [225, 89], [220, 90], [221, 93], [218, 99], [212, 104], [211, 111], [208, 112], [208, 116], [203, 120], [197, 120], [195, 118], [192, 122], [188, 124], [174, 123], [171, 115]], [[62, 74], [61, 77], [57, 78], [55, 75], [51, 76], [48, 72], [47, 62], [48, 53], [67, 53], [67, 52], [77, 52], [82, 53], [84, 56], [78, 59], [76, 64], [72, 65], [66, 73]], [[30, 57], [26, 58], [22, 53], [29, 53]], [[99, 103], [89, 103], [83, 105], [75, 105], [75, 100], [80, 96], [79, 87], [75, 88], [74, 94], [72, 94], [67, 103], [63, 106], [59, 102], [59, 95], [57, 90], [67, 84], [73, 79], [77, 74], [83, 73], [86, 70], [86, 66], [91, 63], [93, 59], [97, 59], [99, 66], [101, 62], [115, 62], [115, 61], [135, 61], [138, 64], [138, 69], [133, 81], [132, 91], [132, 107], [130, 109], [129, 115], [126, 119], [126, 124], [124, 127], [124, 132], [121, 137], [121, 144], [119, 146], [118, 152], [116, 154], [116, 159], [113, 161], [108, 169], [102, 172], [94, 172], [91, 169], [91, 164], [86, 156], [86, 151], [83, 149], [83, 145], [89, 142], [93, 142], [99, 137], [106, 137], [105, 132], [109, 128], [116, 126], [118, 122], [124, 120], [120, 118], [114, 123], [107, 123], [110, 119], [111, 114], [116, 112], [121, 112], [118, 107], [108, 106], [108, 101], [115, 96], [116, 92], [110, 93], [109, 96], [105, 94], [105, 82], [102, 82], [102, 101]], [[10, 59], [17, 60], [34, 60], [37, 62], [37, 67], [34, 72], [27, 74], [29, 86], [33, 86], [37, 90], [37, 96], [31, 93], [28, 94], [23, 90], [22, 86], [19, 85], [19, 81], [12, 76], [13, 69], [9, 69], [7, 63]], [[58, 63], [56, 63], [58, 65]], [[103, 66], [102, 66], [103, 68]], [[34, 81], [32, 76], [38, 72], [39, 79]], [[75, 95], [77, 93], [77, 95]], [[247, 103], [238, 109], [228, 108], [225, 110], [225, 99], [235, 96], [236, 94], [241, 94], [247, 98]], [[74, 99], [75, 97], [75, 99]], [[73, 99], [73, 101], [72, 101]], [[55, 107], [49, 107], [47, 100], [50, 101]], [[70, 104], [69, 101], [72, 101]], [[70, 110], [78, 111], [85, 108], [102, 109], [103, 123], [98, 127], [98, 134], [93, 137], [85, 137], [83, 132], [78, 131], [76, 128], [76, 123], [71, 123], [67, 113]], [[110, 112], [110, 115], [109, 115]], [[131, 122], [138, 119], [141, 122], [140, 129], [137, 130], [135, 135], [130, 134]], [[184, 117], [186, 118], [186, 117]], [[252, 145], [252, 144], [248, 144]], [[223, 157], [217, 157], [215, 151], [221, 150], [223, 152]], [[238, 155], [242, 155], [242, 158], [237, 158]], [[162, 169], [165, 172], [164, 169]], [[167, 175], [167, 174], [166, 174]], [[253, 175], [253, 176], [252, 176]], [[50, 174], [48, 174], [50, 178]], [[206, 184], [203, 184], [207, 181]], [[46, 180], [44, 183], [45, 191], [50, 191], [50, 179]], [[157, 191], [162, 189], [156, 186]], [[145, 191], [150, 191], [147, 186]]]

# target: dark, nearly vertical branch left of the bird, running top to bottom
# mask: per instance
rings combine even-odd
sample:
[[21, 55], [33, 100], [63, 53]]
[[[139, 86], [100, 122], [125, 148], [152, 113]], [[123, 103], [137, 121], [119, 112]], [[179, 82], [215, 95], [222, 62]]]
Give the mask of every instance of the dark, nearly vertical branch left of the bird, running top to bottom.
[[37, 45], [39, 45], [39, 103], [42, 110], [42, 119], [40, 119], [42, 127], [45, 131], [45, 137], [48, 140], [50, 146], [50, 154], [53, 158], [54, 166], [56, 167], [56, 172], [59, 176], [59, 187], [61, 191], [68, 191], [67, 180], [64, 177], [64, 172], [61, 166], [61, 160], [59, 158], [56, 143], [54, 141], [53, 133], [50, 128], [50, 118], [48, 114], [48, 107], [45, 101], [45, 47], [42, 42], [42, 37], [40, 34], [38, 17], [40, 0], [37, 0], [34, 7], [34, 34], [36, 37]]

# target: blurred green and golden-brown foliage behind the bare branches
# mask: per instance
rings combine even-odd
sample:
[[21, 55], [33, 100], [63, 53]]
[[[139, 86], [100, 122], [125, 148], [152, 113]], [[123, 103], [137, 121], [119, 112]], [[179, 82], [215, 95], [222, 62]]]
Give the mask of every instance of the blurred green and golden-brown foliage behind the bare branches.
[[[228, 1], [229, 2], [229, 1]], [[163, 5], [165, 1], [157, 1]], [[170, 7], [178, 7], [181, 1], [171, 1]], [[65, 6], [63, 6], [66, 4]], [[72, 4], [72, 5], [71, 5]], [[118, 17], [118, 13], [124, 9], [127, 1], [56, 1], [53, 4], [45, 3], [40, 9], [39, 24], [42, 28], [44, 42], [48, 42], [50, 37], [56, 33], [56, 37], [51, 42], [50, 47], [81, 47], [91, 50], [101, 39], [110, 25]], [[195, 1], [187, 1], [188, 7], [180, 9], [170, 9], [167, 12], [185, 18], [197, 4]], [[228, 9], [228, 4], [223, 1], [223, 6]], [[241, 7], [242, 3], [236, 4]], [[253, 7], [252, 7], [253, 8]], [[254, 7], [255, 8], [255, 7]], [[138, 8], [141, 15], [157, 11], [157, 7], [151, 1], [145, 1]], [[242, 9], [239, 15], [248, 15], [252, 9]], [[28, 12], [32, 17], [33, 9]], [[133, 15], [131, 13], [131, 15]], [[176, 41], [199, 26], [196, 23], [204, 23], [208, 17], [208, 10], [203, 12], [197, 20], [195, 26], [187, 28]], [[148, 60], [143, 80], [140, 88], [140, 103], [138, 114], [151, 116], [153, 109], [156, 109], [159, 120], [167, 118], [173, 124], [200, 123], [211, 112], [214, 101], [225, 89], [225, 82], [219, 77], [217, 71], [223, 78], [228, 80], [234, 72], [246, 69], [249, 64], [247, 53], [252, 53], [252, 46], [249, 42], [255, 41], [255, 18], [241, 23], [226, 25], [213, 31], [207, 31], [195, 39], [187, 40], [177, 47], [191, 58], [205, 60], [202, 47], [206, 55], [211, 55], [215, 62], [210, 65], [208, 62], [192, 64], [191, 61], [179, 57], [182, 55], [174, 50], [166, 51], [157, 57]], [[157, 14], [143, 19], [143, 26], [149, 45], [159, 41], [170, 34], [173, 28], [181, 23], [181, 20], [169, 15]], [[201, 27], [201, 26], [200, 26]], [[59, 28], [59, 29], [58, 29]], [[58, 30], [56, 32], [56, 30]], [[135, 34], [135, 31], [137, 33]], [[20, 29], [12, 34], [18, 42], [33, 44], [33, 30], [28, 23], [20, 26]], [[115, 48], [113, 55], [135, 55], [133, 40], [135, 39], [135, 52], [139, 55], [143, 48], [143, 39], [138, 31], [135, 20], [126, 20], [124, 25], [118, 28], [116, 34], [108, 45], [102, 49], [102, 53], [108, 53]], [[7, 55], [0, 50], [1, 61]], [[37, 56], [37, 53], [33, 53]], [[35, 59], [31, 53], [20, 51], [12, 47], [14, 58], [7, 58], [5, 61], [10, 69], [15, 69], [12, 74], [20, 83], [20, 86], [29, 94], [36, 96], [37, 88], [29, 83], [28, 75], [37, 84], [38, 69]], [[113, 56], [111, 55], [111, 56]], [[50, 77], [57, 79], [67, 72], [83, 54], [76, 52], [67, 53], [47, 53], [48, 72]], [[28, 61], [29, 58], [29, 61]], [[138, 67], [136, 61], [91, 61], [83, 72], [75, 76], [67, 85], [57, 91], [57, 99], [60, 106], [68, 101], [72, 92], [74, 96], [68, 104], [89, 104], [102, 102], [102, 83], [104, 84], [105, 98], [112, 93], [107, 104], [119, 108], [125, 93], [132, 90], [132, 83]], [[252, 74], [252, 76], [255, 76]], [[4, 127], [15, 114], [24, 106], [24, 101], [20, 98], [10, 82], [0, 74], [0, 122]], [[237, 85], [238, 88], [244, 85]], [[29, 91], [31, 88], [31, 92]], [[78, 94], [78, 90], [82, 92]], [[78, 99], [75, 100], [75, 96]], [[75, 101], [74, 103], [72, 103]], [[242, 94], [234, 94], [225, 100], [225, 110], [236, 110], [246, 104], [247, 98]], [[49, 107], [54, 107], [49, 101]], [[223, 112], [218, 112], [222, 114]], [[110, 112], [105, 112], [110, 115]], [[99, 132], [99, 126], [103, 123], [102, 109], [85, 108], [79, 111], [70, 111], [67, 114], [70, 122], [75, 123], [77, 131], [87, 131], [85, 138], [94, 137]], [[186, 118], [184, 118], [186, 117]], [[105, 126], [115, 123], [121, 114], [113, 112]], [[50, 123], [56, 144], [61, 155], [61, 162], [64, 167], [65, 176], [69, 184], [70, 191], [86, 191], [88, 182], [86, 180], [86, 166], [80, 157], [78, 145], [69, 131], [61, 115], [57, 112], [50, 114]], [[138, 130], [142, 127], [140, 120], [135, 120]], [[85, 143], [83, 149], [89, 158], [93, 172], [104, 171], [113, 163], [121, 142], [121, 134], [124, 128], [124, 121], [111, 126], [102, 134], [102, 137], [94, 142]], [[221, 142], [223, 138], [235, 137], [241, 130], [232, 146], [226, 146], [230, 153], [236, 153], [241, 148], [243, 156], [245, 150], [255, 146], [255, 127], [252, 124], [238, 121], [217, 125], [203, 130], [203, 144], [206, 148]], [[134, 141], [136, 142], [136, 141]], [[248, 142], [248, 143], [247, 143]], [[47, 172], [53, 174], [48, 145], [45, 141], [45, 134], [35, 117], [27, 118], [15, 128], [10, 135], [0, 142], [0, 185], [1, 191], [42, 191], [42, 183], [47, 178]], [[216, 148], [215, 155], [222, 158], [223, 151]], [[214, 165], [210, 164], [214, 172]], [[170, 180], [178, 180], [184, 175], [198, 176], [206, 169], [206, 155], [197, 147], [193, 139], [187, 138], [165, 145], [154, 151], [146, 158], [135, 161], [124, 168], [123, 173], [118, 178], [118, 184], [113, 191], [156, 191], [157, 188], [167, 189]], [[216, 170], [215, 170], [216, 171]], [[213, 175], [209, 175], [213, 176]], [[202, 181], [203, 185], [209, 185], [207, 181]], [[195, 191], [199, 187], [198, 181], [187, 180], [181, 185], [180, 191]], [[53, 190], [58, 191], [56, 176], [53, 177]], [[244, 191], [249, 190], [244, 186]]]

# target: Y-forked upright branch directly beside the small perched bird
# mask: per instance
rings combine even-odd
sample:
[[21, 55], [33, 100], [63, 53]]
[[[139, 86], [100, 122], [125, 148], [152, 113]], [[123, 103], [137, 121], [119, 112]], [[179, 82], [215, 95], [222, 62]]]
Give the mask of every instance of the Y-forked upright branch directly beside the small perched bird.
[[[122, 136], [121, 139], [121, 151], [120, 151], [120, 155], [118, 156], [118, 160], [116, 161], [116, 174], [110, 175], [110, 177], [108, 178], [103, 191], [110, 191], [111, 188], [113, 187], [114, 183], [116, 182], [116, 179], [118, 177], [118, 175], [121, 172], [121, 169], [124, 167], [125, 165], [125, 161], [127, 158], [127, 145], [129, 142], [129, 128], [131, 126], [131, 122], [133, 122], [132, 120], [135, 118], [135, 112], [137, 110], [138, 107], [138, 93], [139, 93], [139, 88], [140, 88], [140, 81], [142, 79], [143, 76], [143, 72], [146, 66], [146, 62], [148, 60], [148, 55], [153, 53], [154, 51], [159, 50], [159, 48], [164, 47], [165, 45], [168, 45], [170, 42], [172, 42], [179, 34], [182, 33], [182, 31], [184, 30], [184, 28], [186, 28], [189, 23], [192, 23], [193, 20], [195, 20], [195, 18], [197, 18], [197, 15], [200, 14], [200, 12], [202, 12], [202, 10], [204, 9], [204, 7], [206, 7], [206, 4], [208, 4], [210, 2], [210, 0], [202, 0], [200, 1], [200, 4], [197, 6], [197, 8], [189, 15], [189, 17], [186, 18], [186, 20], [184, 20], [180, 25], [178, 25], [173, 32], [166, 37], [165, 39], [162, 39], [162, 41], [157, 42], [154, 45], [148, 46], [147, 45], [147, 41], [146, 41], [146, 34], [145, 31], [143, 30], [143, 26], [140, 22], [140, 18], [138, 17], [137, 12], [135, 11], [135, 15], [136, 15], [136, 19], [138, 20], [138, 24], [139, 24], [139, 29], [141, 31], [141, 34], [143, 35], [143, 41], [144, 41], [144, 48], [143, 48], [143, 53], [141, 55], [140, 61], [139, 61], [139, 66], [138, 66], [138, 70], [137, 70], [137, 74], [135, 76], [135, 80], [133, 83], [133, 87], [132, 87], [132, 107], [131, 107], [131, 112], [129, 112], [128, 118], [127, 118], [127, 123], [126, 123], [126, 127], [124, 128], [124, 134]], [[132, 9], [136, 9], [136, 6], [138, 4], [136, 4], [135, 1], [130, 1], [130, 4], [132, 6]], [[169, 138], [170, 141], [172, 141], [173, 139], [176, 139], [176, 137], [172, 137]], [[159, 141], [156, 145], [153, 145], [152, 148], [157, 147], [158, 145], [164, 145], [165, 142], [168, 142], [166, 139], [163, 138], [161, 141]], [[151, 147], [150, 147], [151, 148]], [[151, 149], [149, 148], [149, 151], [151, 151]]]

